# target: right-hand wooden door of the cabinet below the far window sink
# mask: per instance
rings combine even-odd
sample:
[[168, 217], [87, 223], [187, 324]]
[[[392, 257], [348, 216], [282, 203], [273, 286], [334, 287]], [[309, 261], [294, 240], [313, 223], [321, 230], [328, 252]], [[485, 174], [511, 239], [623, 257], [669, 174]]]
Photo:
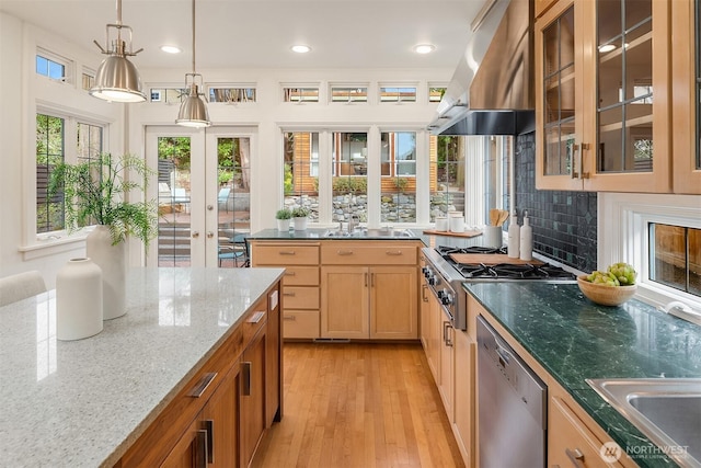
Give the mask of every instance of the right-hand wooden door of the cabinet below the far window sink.
[[415, 340], [418, 336], [416, 266], [370, 269], [370, 339]]

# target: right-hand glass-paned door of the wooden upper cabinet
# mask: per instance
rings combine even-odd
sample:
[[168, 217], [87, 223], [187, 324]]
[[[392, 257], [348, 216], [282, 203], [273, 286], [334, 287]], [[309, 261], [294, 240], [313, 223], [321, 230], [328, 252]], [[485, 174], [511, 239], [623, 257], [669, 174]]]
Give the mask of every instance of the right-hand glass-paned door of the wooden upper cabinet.
[[589, 24], [585, 56], [594, 59], [584, 70], [597, 83], [584, 102], [585, 118], [596, 124], [596, 138], [588, 138], [595, 146], [584, 152], [584, 189], [670, 192], [669, 2], [581, 3]]

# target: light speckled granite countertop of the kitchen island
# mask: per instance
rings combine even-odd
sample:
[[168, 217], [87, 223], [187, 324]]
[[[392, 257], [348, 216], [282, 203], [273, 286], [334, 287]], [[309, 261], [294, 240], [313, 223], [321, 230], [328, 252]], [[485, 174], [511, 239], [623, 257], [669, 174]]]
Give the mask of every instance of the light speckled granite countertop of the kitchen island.
[[127, 313], [56, 339], [54, 290], [0, 307], [0, 465], [113, 466], [283, 269], [135, 269]]

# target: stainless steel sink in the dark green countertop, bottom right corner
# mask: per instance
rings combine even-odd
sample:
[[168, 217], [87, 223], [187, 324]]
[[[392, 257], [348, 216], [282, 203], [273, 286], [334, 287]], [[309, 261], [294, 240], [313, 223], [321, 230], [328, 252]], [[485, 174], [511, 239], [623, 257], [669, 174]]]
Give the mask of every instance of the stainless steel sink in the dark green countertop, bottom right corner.
[[701, 378], [587, 379], [682, 467], [701, 467]]

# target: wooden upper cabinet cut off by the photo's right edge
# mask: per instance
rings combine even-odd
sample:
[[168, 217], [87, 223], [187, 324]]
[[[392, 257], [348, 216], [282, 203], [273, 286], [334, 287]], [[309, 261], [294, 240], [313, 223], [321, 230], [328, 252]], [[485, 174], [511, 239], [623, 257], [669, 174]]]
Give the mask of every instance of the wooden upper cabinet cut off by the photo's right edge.
[[674, 192], [701, 194], [698, 2], [671, 2]]

